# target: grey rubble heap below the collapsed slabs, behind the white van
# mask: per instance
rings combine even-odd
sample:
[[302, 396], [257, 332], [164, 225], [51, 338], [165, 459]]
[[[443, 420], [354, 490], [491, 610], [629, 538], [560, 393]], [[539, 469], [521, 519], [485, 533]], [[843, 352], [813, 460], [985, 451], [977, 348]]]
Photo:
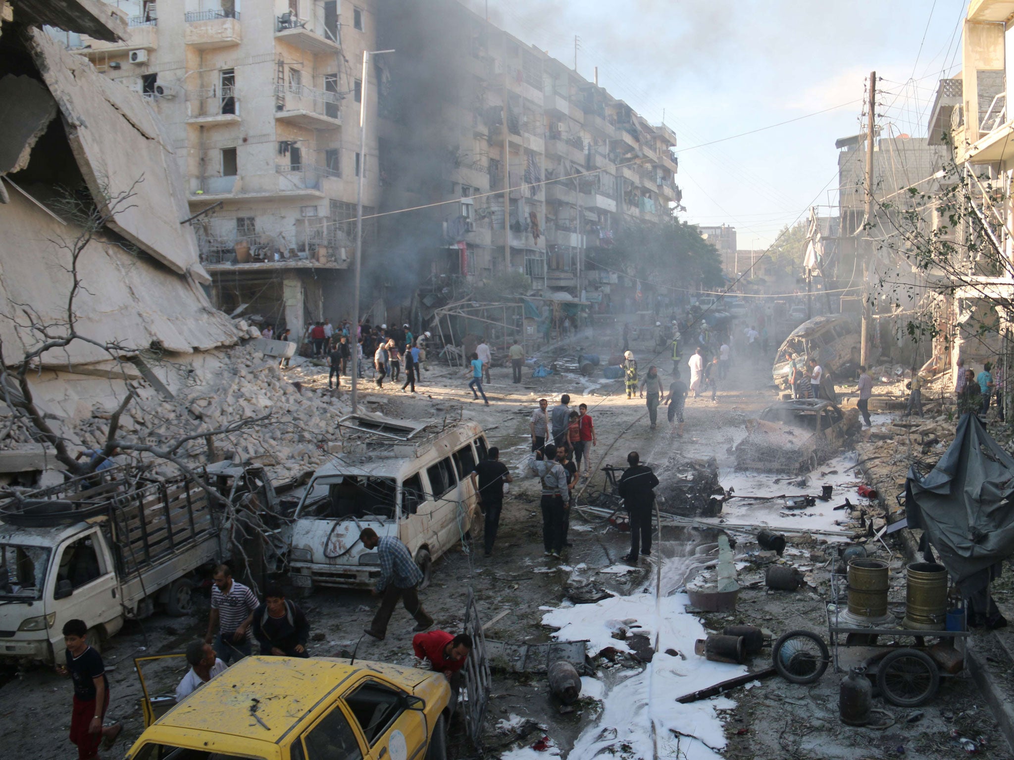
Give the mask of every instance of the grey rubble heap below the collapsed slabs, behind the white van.
[[[120, 417], [117, 437], [156, 447], [171, 446], [185, 436], [270, 415], [240, 431], [214, 436], [215, 460], [254, 461], [265, 465], [273, 478], [288, 477], [327, 461], [328, 444], [339, 435], [338, 420], [349, 412], [347, 401], [291, 382], [280, 372], [277, 359], [252, 348], [236, 347], [204, 356], [200, 367], [189, 369], [192, 379], [174, 388], [171, 398], [146, 383], [132, 384], [135, 398]], [[59, 433], [71, 443], [72, 451], [77, 447], [100, 448], [115, 408], [110, 402], [96, 405], [90, 415], [77, 422], [56, 421], [62, 422]], [[17, 424], [0, 448], [23, 448], [32, 440], [25, 426]], [[192, 464], [206, 463], [206, 439], [189, 442], [182, 453]], [[118, 461], [136, 456], [126, 452]], [[150, 460], [151, 455], [143, 456]]]

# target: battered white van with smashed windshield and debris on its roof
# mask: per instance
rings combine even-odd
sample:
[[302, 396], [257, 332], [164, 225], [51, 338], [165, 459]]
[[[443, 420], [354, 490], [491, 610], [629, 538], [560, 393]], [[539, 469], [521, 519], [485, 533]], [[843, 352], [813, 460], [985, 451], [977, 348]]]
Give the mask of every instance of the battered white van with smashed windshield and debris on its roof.
[[293, 586], [371, 588], [380, 577], [364, 528], [401, 539], [429, 583], [434, 559], [469, 534], [479, 512], [470, 475], [486, 459], [482, 428], [374, 414], [343, 417], [342, 452], [318, 468], [289, 526]]

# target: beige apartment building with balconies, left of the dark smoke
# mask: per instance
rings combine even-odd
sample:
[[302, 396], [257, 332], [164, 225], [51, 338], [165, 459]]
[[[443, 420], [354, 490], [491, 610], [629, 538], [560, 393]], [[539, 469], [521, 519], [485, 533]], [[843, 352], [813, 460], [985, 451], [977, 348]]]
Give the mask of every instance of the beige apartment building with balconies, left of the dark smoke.
[[[351, 316], [343, 270], [353, 257], [363, 165], [364, 213], [379, 204], [379, 174], [359, 155], [357, 62], [374, 49], [377, 23], [369, 5], [111, 4], [127, 18], [127, 40], [67, 42], [150, 98], [164, 123], [191, 211], [206, 211], [192, 224], [216, 305], [248, 304], [297, 334], [324, 314]], [[377, 153], [372, 135], [368, 157]]]

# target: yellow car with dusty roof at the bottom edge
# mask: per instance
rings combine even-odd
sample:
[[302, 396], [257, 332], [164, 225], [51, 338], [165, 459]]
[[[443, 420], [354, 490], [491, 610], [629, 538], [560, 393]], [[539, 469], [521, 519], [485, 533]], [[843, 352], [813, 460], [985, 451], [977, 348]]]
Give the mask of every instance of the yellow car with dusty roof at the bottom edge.
[[128, 760], [445, 760], [450, 685], [433, 671], [247, 657], [145, 730]]

